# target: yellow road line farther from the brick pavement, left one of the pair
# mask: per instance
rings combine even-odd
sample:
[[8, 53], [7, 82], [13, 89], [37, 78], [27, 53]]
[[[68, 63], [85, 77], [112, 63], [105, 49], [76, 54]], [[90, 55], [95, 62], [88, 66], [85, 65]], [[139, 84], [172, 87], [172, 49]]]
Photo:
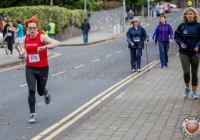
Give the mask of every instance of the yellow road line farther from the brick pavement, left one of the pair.
[[[149, 66], [151, 66], [153, 64], [157, 64], [157, 63], [158, 63], [158, 61], [154, 60], [151, 63], [149, 63]], [[145, 70], [146, 68], [148, 68], [148, 66], [143, 67], [142, 70]], [[106, 94], [107, 92], [109, 92], [110, 90], [112, 90], [113, 88], [115, 88], [116, 86], [118, 86], [119, 84], [121, 84], [121, 83], [127, 81], [129, 78], [135, 76], [136, 74], [137, 73], [133, 73], [133, 74], [129, 75], [125, 79], [121, 80], [120, 82], [114, 84], [113, 86], [111, 86], [110, 88], [106, 89], [102, 93], [98, 94], [96, 97], [94, 97], [93, 99], [91, 99], [90, 101], [88, 101], [87, 103], [85, 103], [84, 105], [82, 105], [81, 107], [79, 107], [78, 109], [76, 109], [74, 112], [72, 112], [71, 114], [69, 114], [68, 116], [66, 116], [65, 118], [63, 118], [62, 120], [58, 121], [57, 123], [53, 124], [52, 126], [50, 126], [49, 128], [47, 128], [46, 130], [44, 130], [43, 132], [41, 132], [40, 134], [38, 134], [37, 136], [35, 136], [34, 138], [32, 138], [32, 140], [38, 140], [38, 139], [42, 138], [43, 136], [45, 136], [50, 131], [52, 131], [53, 129], [55, 129], [59, 125], [63, 124], [68, 119], [72, 118], [75, 114], [77, 114], [81, 110], [85, 109], [92, 102], [94, 102], [95, 100], [97, 100], [98, 98], [100, 98], [101, 96], [103, 96], [104, 94]]]

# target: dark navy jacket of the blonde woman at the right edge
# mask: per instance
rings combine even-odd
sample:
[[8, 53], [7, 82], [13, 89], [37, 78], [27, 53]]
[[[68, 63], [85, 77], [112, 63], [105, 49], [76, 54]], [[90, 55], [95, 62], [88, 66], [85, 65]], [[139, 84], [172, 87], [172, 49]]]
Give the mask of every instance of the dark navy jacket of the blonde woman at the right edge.
[[[181, 23], [175, 31], [174, 40], [179, 45], [180, 54], [196, 54], [194, 48], [200, 48], [200, 23], [196, 20]], [[181, 44], [185, 44], [187, 48], [183, 49]]]

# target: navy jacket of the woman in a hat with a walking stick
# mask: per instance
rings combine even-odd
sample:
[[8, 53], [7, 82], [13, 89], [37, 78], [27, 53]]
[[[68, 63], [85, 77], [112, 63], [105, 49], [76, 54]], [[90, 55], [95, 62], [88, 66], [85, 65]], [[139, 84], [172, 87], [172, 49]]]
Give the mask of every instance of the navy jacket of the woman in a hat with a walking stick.
[[[140, 42], [134, 42], [133, 37], [139, 37]], [[126, 40], [128, 41], [129, 48], [144, 49], [144, 41], [147, 40], [146, 31], [140, 25], [137, 30], [134, 27], [131, 27], [131, 28], [129, 28], [128, 32], [126, 33]], [[134, 46], [132, 46], [131, 43], [134, 43]]]

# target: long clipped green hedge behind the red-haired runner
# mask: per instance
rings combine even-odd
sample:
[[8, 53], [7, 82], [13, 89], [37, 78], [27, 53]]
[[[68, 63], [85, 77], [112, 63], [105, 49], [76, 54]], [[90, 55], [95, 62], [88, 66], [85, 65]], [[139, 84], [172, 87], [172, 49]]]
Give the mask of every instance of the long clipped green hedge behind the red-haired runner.
[[15, 24], [19, 19], [24, 25], [25, 21], [33, 15], [38, 15], [39, 24], [41, 27], [48, 25], [48, 20], [51, 18], [56, 24], [56, 33], [62, 28], [65, 28], [69, 23], [76, 27], [80, 27], [84, 19], [83, 10], [68, 10], [57, 6], [23, 6], [13, 8], [0, 9], [0, 14], [10, 18]]

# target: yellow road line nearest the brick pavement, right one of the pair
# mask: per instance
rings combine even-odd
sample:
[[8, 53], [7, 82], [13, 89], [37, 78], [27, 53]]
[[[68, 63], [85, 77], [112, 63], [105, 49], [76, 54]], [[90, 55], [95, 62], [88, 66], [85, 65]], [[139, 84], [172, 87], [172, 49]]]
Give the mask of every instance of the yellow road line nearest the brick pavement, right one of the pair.
[[[158, 63], [158, 61], [156, 63], [154, 63], [153, 65], [150, 66], [150, 68], [152, 68], [154, 65], [156, 65]], [[116, 91], [118, 91], [120, 88], [122, 88], [123, 86], [125, 86], [126, 84], [128, 84], [129, 82], [131, 82], [132, 80], [134, 80], [135, 78], [137, 78], [138, 76], [142, 75], [145, 71], [142, 71], [140, 73], [138, 73], [137, 75], [135, 75], [134, 77], [130, 78], [129, 80], [125, 81], [124, 83], [122, 83], [121, 85], [119, 85], [117, 88], [115, 88], [114, 90], [112, 90], [111, 92], [109, 92], [108, 94], [106, 94], [104, 97], [102, 97], [101, 99], [97, 100], [93, 105], [91, 105], [90, 107], [88, 107], [86, 110], [84, 110], [82, 113], [80, 113], [78, 116], [76, 116], [73, 120], [71, 120], [70, 122], [66, 123], [65, 125], [63, 125], [62, 127], [60, 127], [58, 130], [56, 130], [55, 132], [53, 132], [51, 135], [49, 135], [48, 137], [46, 137], [44, 140], [50, 140], [52, 138], [54, 138], [56, 135], [58, 135], [60, 132], [62, 132], [64, 129], [66, 129], [67, 127], [69, 127], [71, 124], [73, 124], [75, 121], [77, 121], [78, 119], [80, 119], [82, 116], [84, 116], [86, 113], [88, 113], [91, 109], [93, 109], [94, 107], [96, 107], [98, 104], [100, 104], [102, 101], [104, 101], [105, 99], [107, 99], [109, 96], [111, 96], [113, 93], [115, 93]]]

